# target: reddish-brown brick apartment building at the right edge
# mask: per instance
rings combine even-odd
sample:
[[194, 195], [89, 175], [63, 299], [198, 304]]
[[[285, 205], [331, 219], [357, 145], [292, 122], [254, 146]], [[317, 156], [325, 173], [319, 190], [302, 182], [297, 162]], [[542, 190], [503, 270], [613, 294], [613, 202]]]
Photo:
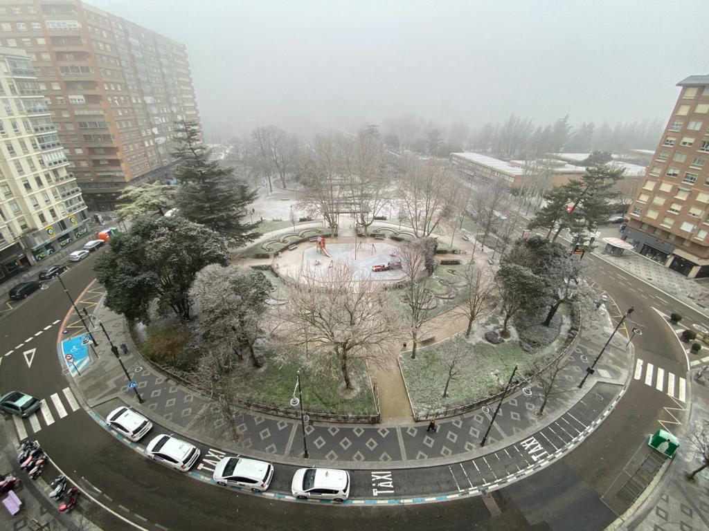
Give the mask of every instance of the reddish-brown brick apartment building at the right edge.
[[709, 75], [677, 86], [679, 98], [623, 237], [644, 256], [701, 278], [709, 276]]

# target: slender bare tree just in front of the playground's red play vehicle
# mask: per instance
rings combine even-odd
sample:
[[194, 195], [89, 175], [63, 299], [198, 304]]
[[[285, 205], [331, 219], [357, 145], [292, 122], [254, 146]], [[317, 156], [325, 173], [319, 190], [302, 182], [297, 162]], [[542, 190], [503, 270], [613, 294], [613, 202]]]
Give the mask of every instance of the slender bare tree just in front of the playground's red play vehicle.
[[414, 360], [434, 298], [431, 278], [427, 270], [426, 247], [421, 240], [410, 241], [398, 247], [396, 256], [401, 260], [401, 270], [406, 275], [403, 302], [408, 310], [411, 359]]

